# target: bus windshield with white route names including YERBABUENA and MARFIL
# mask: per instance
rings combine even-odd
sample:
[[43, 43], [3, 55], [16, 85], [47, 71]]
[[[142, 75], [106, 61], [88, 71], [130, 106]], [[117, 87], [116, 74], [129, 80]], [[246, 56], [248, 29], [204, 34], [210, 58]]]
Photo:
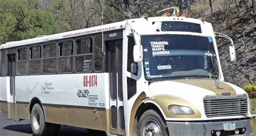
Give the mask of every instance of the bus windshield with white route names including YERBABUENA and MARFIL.
[[219, 77], [212, 37], [143, 35], [141, 41], [147, 80]]

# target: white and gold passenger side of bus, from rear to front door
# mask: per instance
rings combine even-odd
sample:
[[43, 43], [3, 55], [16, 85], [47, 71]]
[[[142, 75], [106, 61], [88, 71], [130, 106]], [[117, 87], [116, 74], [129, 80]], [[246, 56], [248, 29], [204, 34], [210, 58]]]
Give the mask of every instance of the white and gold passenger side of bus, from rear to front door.
[[123, 94], [118, 92], [123, 26], [119, 22], [1, 45], [0, 110], [9, 119], [31, 119], [35, 135], [56, 134], [60, 125], [125, 134]]

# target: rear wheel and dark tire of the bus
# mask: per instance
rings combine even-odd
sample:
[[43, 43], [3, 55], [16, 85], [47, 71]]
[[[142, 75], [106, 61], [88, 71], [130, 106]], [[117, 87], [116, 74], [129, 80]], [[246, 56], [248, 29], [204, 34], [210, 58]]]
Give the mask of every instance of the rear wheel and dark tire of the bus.
[[31, 128], [35, 136], [56, 135], [60, 125], [46, 123], [42, 107], [35, 104], [31, 111]]

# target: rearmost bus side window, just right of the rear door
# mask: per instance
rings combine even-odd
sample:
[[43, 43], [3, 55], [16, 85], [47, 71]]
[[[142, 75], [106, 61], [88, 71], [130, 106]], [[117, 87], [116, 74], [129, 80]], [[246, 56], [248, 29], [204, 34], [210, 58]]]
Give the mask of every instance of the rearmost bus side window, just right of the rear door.
[[25, 75], [28, 73], [28, 48], [18, 49], [17, 75]]

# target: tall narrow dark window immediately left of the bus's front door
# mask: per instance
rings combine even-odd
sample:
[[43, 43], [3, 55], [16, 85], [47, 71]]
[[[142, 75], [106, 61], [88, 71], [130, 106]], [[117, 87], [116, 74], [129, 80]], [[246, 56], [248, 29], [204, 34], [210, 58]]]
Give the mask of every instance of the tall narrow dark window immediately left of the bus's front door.
[[103, 70], [103, 46], [102, 35], [96, 35], [95, 41], [95, 71]]

